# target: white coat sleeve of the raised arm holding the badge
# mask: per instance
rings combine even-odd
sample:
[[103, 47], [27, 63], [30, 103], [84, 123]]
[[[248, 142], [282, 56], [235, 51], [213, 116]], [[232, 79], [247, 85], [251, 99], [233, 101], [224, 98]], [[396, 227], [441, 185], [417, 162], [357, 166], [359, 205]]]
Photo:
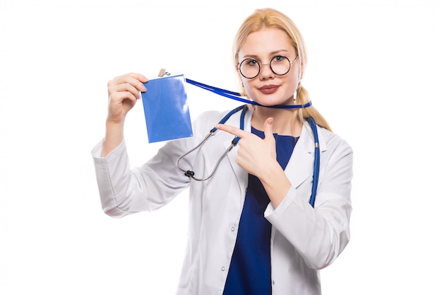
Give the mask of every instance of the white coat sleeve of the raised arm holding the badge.
[[92, 149], [98, 190], [103, 211], [122, 217], [141, 211], [154, 211], [176, 197], [189, 185], [175, 166], [192, 139], [169, 141], [143, 166], [129, 165], [126, 143], [121, 142], [106, 157], [101, 157], [102, 142]]

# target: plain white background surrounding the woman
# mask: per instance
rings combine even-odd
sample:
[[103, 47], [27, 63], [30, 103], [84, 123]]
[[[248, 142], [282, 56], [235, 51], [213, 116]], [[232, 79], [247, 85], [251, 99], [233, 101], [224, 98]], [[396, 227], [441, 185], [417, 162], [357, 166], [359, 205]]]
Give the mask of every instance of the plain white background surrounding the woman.
[[[166, 68], [236, 91], [234, 34], [268, 6], [297, 23], [304, 86], [354, 149], [352, 240], [323, 293], [442, 294], [436, 0], [0, 0], [0, 294], [174, 294], [187, 192], [153, 213], [101, 211], [90, 150], [107, 81]], [[188, 86], [193, 117], [237, 105]], [[133, 166], [161, 145], [141, 103], [126, 141]]]

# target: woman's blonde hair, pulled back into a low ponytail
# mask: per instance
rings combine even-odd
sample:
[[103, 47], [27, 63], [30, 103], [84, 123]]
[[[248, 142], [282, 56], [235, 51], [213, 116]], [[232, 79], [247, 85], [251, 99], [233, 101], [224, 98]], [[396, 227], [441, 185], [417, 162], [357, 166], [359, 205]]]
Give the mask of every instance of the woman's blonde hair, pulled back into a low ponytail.
[[[304, 45], [304, 39], [302, 38], [301, 33], [299, 32], [297, 26], [293, 23], [293, 21], [284, 13], [281, 13], [280, 11], [277, 11], [273, 8], [257, 9], [251, 16], [246, 18], [241, 27], [239, 27], [238, 33], [235, 36], [233, 43], [235, 69], [239, 64], [239, 50], [241, 50], [242, 45], [244, 45], [244, 42], [246, 42], [246, 37], [253, 32], [261, 30], [262, 28], [278, 28], [287, 33], [295, 52], [299, 56], [298, 60], [302, 78], [302, 74], [304, 74], [304, 70], [307, 64], [307, 53], [306, 47]], [[245, 90], [242, 87], [241, 95], [246, 96]], [[304, 87], [301, 86], [301, 83], [299, 83], [299, 87], [297, 89], [296, 103], [299, 105], [304, 105], [309, 101], [309, 93]], [[313, 117], [317, 125], [331, 131], [328, 122], [318, 112], [318, 110], [313, 107], [313, 105], [308, 108], [299, 108], [295, 110], [294, 117], [300, 122], [303, 122], [307, 117]]]

